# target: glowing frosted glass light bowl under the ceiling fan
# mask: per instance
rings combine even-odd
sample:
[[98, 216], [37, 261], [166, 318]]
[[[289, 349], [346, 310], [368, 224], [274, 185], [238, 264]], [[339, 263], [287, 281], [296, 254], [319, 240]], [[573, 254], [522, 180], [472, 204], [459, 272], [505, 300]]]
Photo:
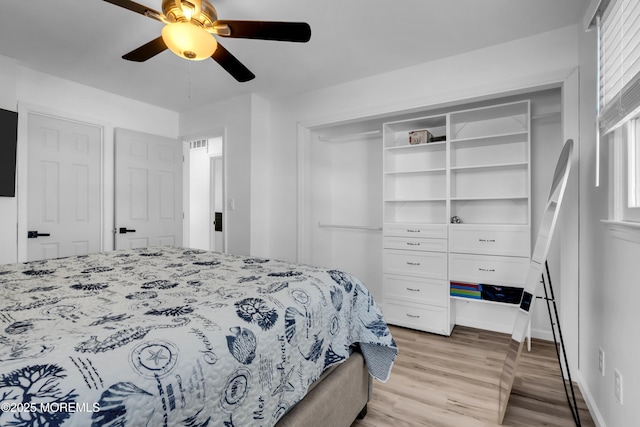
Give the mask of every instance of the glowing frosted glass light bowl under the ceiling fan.
[[192, 61], [210, 58], [218, 47], [218, 42], [207, 30], [189, 22], [165, 25], [162, 40], [171, 52]]

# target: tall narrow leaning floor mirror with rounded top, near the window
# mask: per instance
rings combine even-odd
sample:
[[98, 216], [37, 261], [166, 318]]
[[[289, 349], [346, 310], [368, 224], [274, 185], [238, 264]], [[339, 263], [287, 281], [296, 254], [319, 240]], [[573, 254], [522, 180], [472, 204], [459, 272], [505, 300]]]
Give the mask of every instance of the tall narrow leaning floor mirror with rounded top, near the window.
[[511, 395], [511, 387], [513, 386], [515, 371], [518, 367], [520, 355], [522, 354], [525, 341], [524, 338], [526, 337], [530, 322], [529, 316], [542, 278], [542, 269], [547, 259], [547, 255], [549, 254], [553, 230], [558, 220], [560, 204], [562, 203], [564, 191], [567, 186], [567, 180], [569, 178], [572, 153], [573, 140], [569, 139], [562, 148], [562, 152], [560, 153], [560, 157], [553, 174], [549, 198], [547, 199], [547, 204], [542, 216], [542, 222], [540, 224], [540, 230], [533, 249], [533, 256], [531, 257], [531, 263], [527, 273], [520, 308], [516, 314], [513, 334], [511, 335], [511, 340], [507, 349], [507, 356], [502, 368], [498, 414], [498, 422], [500, 424], [502, 424], [504, 414], [507, 410], [507, 403], [509, 402], [509, 396]]

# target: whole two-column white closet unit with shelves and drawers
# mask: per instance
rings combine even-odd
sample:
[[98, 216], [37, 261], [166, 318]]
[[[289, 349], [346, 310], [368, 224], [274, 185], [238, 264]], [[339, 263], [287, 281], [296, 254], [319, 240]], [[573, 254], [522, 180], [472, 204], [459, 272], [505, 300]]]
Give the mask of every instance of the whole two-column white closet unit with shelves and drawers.
[[385, 123], [383, 132], [385, 318], [449, 335], [452, 282], [518, 288], [526, 280], [530, 102]]

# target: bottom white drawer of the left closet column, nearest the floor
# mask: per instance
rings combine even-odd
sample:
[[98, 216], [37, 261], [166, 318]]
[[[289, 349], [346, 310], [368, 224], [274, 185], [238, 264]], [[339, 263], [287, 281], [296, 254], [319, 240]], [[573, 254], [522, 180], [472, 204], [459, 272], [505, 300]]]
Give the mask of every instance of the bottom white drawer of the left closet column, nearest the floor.
[[449, 335], [449, 316], [446, 307], [403, 303], [385, 299], [383, 315], [387, 323], [421, 331]]

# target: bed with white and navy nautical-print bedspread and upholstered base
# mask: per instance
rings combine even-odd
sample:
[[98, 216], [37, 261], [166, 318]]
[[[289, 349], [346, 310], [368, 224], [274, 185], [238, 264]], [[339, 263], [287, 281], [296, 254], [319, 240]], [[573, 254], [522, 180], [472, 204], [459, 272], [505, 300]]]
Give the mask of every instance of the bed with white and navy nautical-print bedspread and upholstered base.
[[396, 355], [337, 270], [176, 247], [0, 266], [1, 426], [348, 426]]

